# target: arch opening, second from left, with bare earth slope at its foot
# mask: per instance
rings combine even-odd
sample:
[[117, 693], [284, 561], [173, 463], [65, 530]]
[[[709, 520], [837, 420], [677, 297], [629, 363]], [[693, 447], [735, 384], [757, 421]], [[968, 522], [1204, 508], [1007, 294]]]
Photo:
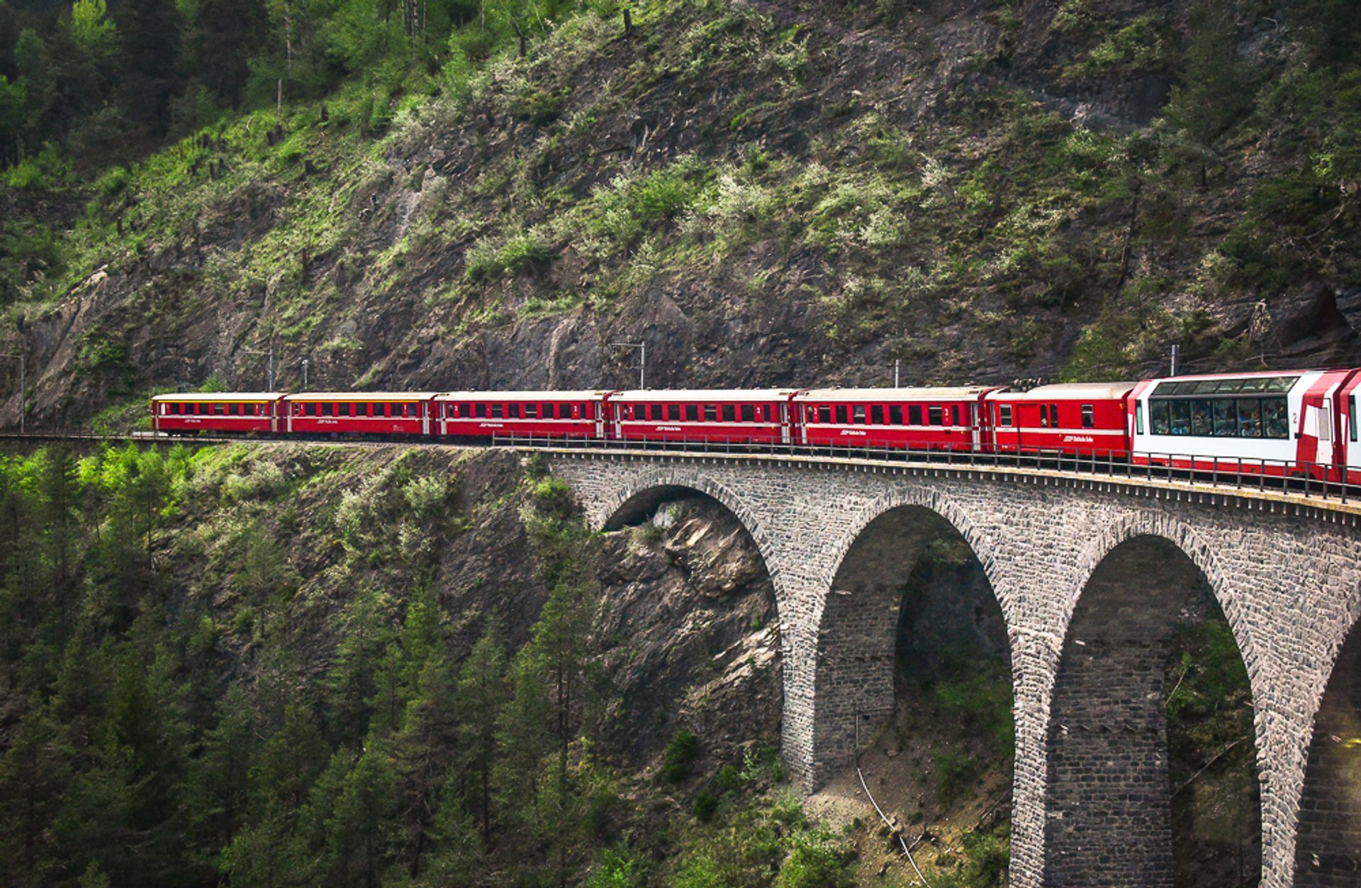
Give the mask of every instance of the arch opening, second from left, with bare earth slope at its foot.
[[953, 874], [934, 869], [932, 849], [970, 832], [965, 847], [1004, 866], [1013, 707], [1006, 618], [969, 542], [925, 507], [875, 518], [838, 565], [821, 621], [821, 794], [864, 805], [859, 765], [885, 810], [942, 839], [915, 851], [928, 876]]

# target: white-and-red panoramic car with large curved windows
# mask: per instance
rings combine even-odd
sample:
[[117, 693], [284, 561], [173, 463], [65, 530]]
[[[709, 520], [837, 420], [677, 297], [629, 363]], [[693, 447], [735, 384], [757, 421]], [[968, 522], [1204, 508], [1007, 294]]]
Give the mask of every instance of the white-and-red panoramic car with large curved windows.
[[1356, 375], [1343, 369], [1145, 380], [1128, 406], [1132, 459], [1135, 464], [1341, 481], [1346, 440], [1339, 434], [1343, 411], [1337, 405]]

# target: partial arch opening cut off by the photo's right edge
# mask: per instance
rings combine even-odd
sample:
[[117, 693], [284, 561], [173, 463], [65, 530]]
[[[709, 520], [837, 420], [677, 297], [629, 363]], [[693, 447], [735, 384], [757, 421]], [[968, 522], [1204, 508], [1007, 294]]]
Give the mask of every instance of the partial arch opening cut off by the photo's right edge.
[[1338, 652], [1313, 719], [1294, 859], [1298, 888], [1361, 884], [1361, 622]]

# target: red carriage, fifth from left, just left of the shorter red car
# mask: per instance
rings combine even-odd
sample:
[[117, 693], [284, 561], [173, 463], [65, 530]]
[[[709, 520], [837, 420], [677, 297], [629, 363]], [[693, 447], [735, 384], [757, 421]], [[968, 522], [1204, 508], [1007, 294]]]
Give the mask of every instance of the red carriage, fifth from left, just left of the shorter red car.
[[814, 388], [793, 398], [799, 443], [980, 451], [999, 387]]

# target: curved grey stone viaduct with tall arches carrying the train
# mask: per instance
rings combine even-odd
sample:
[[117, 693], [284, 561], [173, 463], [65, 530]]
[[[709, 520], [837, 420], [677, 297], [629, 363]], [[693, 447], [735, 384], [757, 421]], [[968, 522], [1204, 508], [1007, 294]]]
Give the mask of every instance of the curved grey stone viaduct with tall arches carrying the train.
[[1347, 744], [1361, 737], [1361, 637], [1346, 643], [1361, 614], [1361, 509], [968, 466], [547, 458], [597, 527], [680, 490], [746, 526], [780, 613], [783, 753], [810, 791], [855, 755], [856, 719], [871, 720], [868, 738], [891, 714], [902, 582], [927, 537], [957, 531], [1007, 624], [1017, 888], [1173, 884], [1166, 643], [1207, 584], [1251, 680], [1260, 884], [1361, 885], [1361, 741]]

